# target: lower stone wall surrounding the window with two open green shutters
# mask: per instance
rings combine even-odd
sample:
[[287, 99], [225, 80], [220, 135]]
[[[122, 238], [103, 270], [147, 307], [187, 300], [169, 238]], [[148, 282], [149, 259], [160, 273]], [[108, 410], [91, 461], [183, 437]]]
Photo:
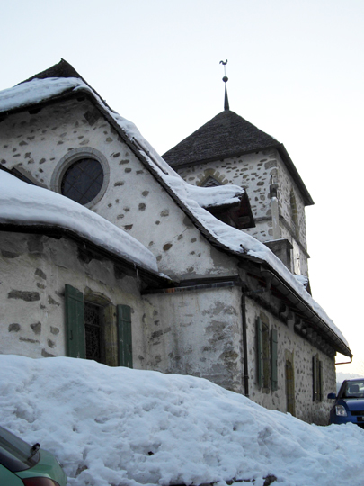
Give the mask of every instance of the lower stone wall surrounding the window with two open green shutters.
[[0, 353], [66, 356], [65, 285], [71, 284], [85, 297], [131, 307], [134, 367], [143, 367], [148, 303], [137, 277], [105, 258], [87, 263], [66, 238], [10, 232], [0, 233], [0, 275]]

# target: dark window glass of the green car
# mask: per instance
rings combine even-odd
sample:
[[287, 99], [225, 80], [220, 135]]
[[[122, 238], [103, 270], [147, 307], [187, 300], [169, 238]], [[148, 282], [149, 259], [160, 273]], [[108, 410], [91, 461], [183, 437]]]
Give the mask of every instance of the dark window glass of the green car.
[[40, 453], [33, 454], [29, 444], [0, 426], [0, 464], [17, 473], [31, 468], [39, 460]]

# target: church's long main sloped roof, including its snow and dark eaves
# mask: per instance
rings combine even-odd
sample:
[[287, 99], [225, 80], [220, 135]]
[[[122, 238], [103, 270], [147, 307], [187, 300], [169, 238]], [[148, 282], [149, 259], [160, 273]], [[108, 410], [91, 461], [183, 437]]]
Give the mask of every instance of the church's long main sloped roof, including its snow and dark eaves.
[[[280, 259], [257, 239], [214, 218], [208, 211], [203, 209], [200, 205], [201, 202], [197, 202], [199, 198], [196, 197], [196, 194], [193, 195], [195, 191], [209, 192], [209, 190], [215, 188], [201, 188], [185, 183], [180, 175], [174, 172], [173, 168], [141, 136], [137, 127], [132, 122], [122, 118], [118, 113], [113, 112], [80, 76], [44, 79], [33, 77], [27, 83], [4, 90], [0, 93], [0, 112], [3, 112], [4, 116], [6, 116], [11, 112], [29, 109], [42, 103], [54, 103], [63, 98], [67, 99], [70, 95], [77, 96], [79, 93], [89, 96], [105, 119], [118, 132], [120, 138], [151, 174], [155, 176], [155, 179], [169, 193], [173, 201], [191, 218], [191, 221], [200, 229], [200, 232], [209, 240], [210, 244], [234, 257], [247, 258], [255, 261], [258, 265], [262, 264], [262, 266], [265, 266], [269, 272], [275, 275], [274, 278], [280, 285], [281, 292], [284, 295], [289, 295], [297, 308], [308, 312], [311, 316], [310, 319], [329, 338], [334, 349], [343, 355], [351, 356], [349, 345], [342, 336], [340, 329], [335, 326], [320, 305], [306, 292], [304, 285], [297, 282], [297, 279], [289, 272], [289, 269], [284, 266]], [[226, 189], [226, 186], [224, 188]], [[234, 199], [241, 191], [241, 188], [235, 187], [230, 190], [234, 194], [226, 194], [219, 203], [226, 196], [227, 199], [229, 197]]]

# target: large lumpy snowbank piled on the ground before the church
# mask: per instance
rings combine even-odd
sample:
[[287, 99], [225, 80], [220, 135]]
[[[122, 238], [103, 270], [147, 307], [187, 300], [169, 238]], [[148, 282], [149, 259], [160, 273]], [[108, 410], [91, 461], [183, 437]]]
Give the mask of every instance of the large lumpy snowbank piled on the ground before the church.
[[0, 424], [58, 455], [69, 486], [364, 484], [352, 424], [309, 425], [191, 376], [67, 357], [2, 355], [0, 369]]

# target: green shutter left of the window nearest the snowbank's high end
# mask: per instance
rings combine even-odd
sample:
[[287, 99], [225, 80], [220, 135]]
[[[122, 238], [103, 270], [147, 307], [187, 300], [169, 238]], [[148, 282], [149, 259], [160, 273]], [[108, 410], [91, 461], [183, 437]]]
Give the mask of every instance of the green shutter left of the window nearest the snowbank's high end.
[[86, 356], [84, 341], [84, 294], [66, 284], [67, 356]]

